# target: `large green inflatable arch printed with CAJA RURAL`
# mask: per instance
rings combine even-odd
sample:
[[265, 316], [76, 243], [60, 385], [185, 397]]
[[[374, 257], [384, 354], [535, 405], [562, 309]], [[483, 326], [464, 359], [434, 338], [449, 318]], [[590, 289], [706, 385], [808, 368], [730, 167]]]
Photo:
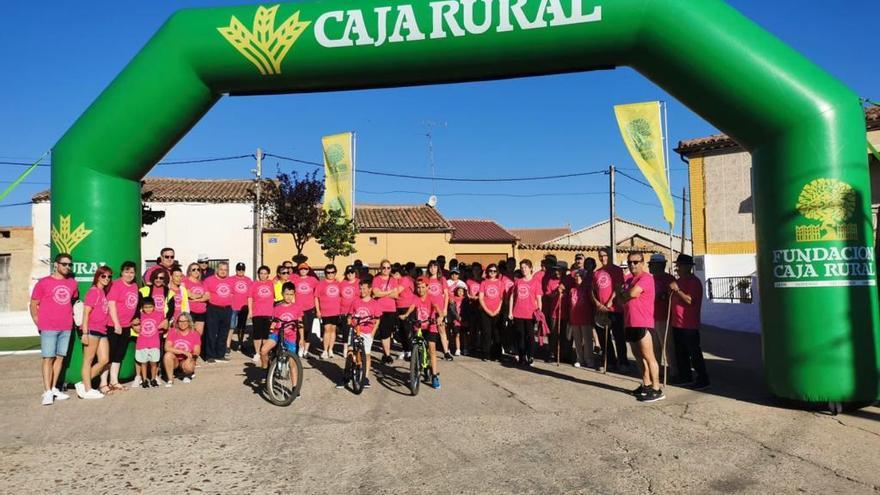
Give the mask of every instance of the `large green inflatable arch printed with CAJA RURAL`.
[[53, 252], [72, 251], [81, 281], [99, 264], [141, 259], [139, 180], [224, 94], [621, 65], [752, 153], [772, 392], [811, 402], [877, 398], [858, 98], [720, 0], [326, 0], [180, 11], [56, 144]]

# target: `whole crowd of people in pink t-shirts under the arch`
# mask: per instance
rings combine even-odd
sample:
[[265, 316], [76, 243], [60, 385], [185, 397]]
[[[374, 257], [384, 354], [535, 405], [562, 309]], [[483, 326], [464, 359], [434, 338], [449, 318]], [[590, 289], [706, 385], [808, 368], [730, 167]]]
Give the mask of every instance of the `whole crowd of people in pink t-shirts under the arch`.
[[[247, 353], [264, 370], [279, 342], [300, 357], [332, 360], [345, 356], [355, 334], [367, 349], [375, 338], [385, 364], [409, 360], [412, 336], [420, 332], [430, 350], [434, 388], [440, 388], [438, 362], [467, 355], [522, 367], [544, 358], [628, 373], [627, 343], [641, 373], [633, 391], [639, 401], [665, 398], [663, 365], [673, 372], [673, 384], [709, 386], [699, 339], [702, 284], [693, 275], [693, 258], [678, 256], [677, 277], [666, 272], [662, 254], [646, 259], [631, 253], [626, 269], [612, 262], [608, 250], [598, 258], [597, 264], [577, 254], [570, 266], [552, 255], [538, 266], [508, 258], [484, 267], [454, 259], [447, 266], [438, 256], [424, 268], [383, 260], [375, 274], [355, 261], [341, 277], [333, 264], [319, 275], [305, 262], [285, 261], [274, 276], [259, 267], [252, 280], [244, 263], [231, 275], [228, 263], [214, 270], [207, 256], [199, 256], [184, 269], [174, 249], [164, 248], [143, 274], [143, 286], [134, 262], [123, 263], [115, 280], [110, 267], [100, 267], [74, 321], [79, 294], [70, 278], [72, 258], [62, 253], [31, 297], [41, 336], [42, 403], [68, 398], [57, 384], [72, 331], [83, 350], [76, 393], [99, 399], [126, 389], [119, 371], [130, 342], [137, 362], [130, 386], [171, 387], [175, 380], [191, 382], [200, 360], [228, 361], [236, 330], [244, 351], [248, 320]], [[364, 385], [369, 387], [369, 378]], [[344, 379], [337, 383], [344, 386]]]

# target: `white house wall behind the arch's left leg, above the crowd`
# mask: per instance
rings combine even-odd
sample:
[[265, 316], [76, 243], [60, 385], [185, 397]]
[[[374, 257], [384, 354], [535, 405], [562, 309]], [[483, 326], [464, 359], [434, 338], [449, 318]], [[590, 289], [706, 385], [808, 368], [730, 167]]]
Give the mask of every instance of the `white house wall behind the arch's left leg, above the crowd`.
[[[212, 259], [226, 258], [234, 264], [243, 261], [251, 273], [254, 253], [254, 217], [247, 203], [148, 203], [165, 217], [144, 228], [141, 238], [141, 273], [145, 260], [155, 260], [165, 246], [174, 248], [181, 264], [195, 261], [200, 253]], [[32, 284], [49, 274], [51, 243], [50, 204], [35, 203], [31, 207], [34, 227], [34, 261]], [[115, 269], [116, 267], [114, 267]]]

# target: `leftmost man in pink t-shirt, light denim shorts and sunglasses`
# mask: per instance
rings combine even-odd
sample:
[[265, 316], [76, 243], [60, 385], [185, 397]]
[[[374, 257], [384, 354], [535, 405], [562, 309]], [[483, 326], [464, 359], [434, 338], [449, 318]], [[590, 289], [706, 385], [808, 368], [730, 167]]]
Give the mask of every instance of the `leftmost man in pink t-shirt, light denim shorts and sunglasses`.
[[76, 280], [70, 276], [72, 264], [73, 258], [69, 254], [56, 255], [54, 271], [48, 277], [41, 278], [31, 293], [31, 319], [40, 333], [40, 353], [43, 356], [44, 406], [70, 398], [56, 385], [70, 342], [73, 303], [79, 297]]

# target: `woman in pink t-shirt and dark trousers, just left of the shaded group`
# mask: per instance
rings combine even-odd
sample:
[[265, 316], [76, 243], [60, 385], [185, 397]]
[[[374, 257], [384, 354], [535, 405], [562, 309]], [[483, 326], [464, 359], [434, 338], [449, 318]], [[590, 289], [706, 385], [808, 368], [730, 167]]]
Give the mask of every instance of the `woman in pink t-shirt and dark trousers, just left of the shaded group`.
[[532, 261], [522, 260], [523, 276], [513, 282], [508, 319], [513, 320], [517, 361], [531, 366], [535, 349], [535, 312], [541, 311], [541, 279], [532, 275]]

